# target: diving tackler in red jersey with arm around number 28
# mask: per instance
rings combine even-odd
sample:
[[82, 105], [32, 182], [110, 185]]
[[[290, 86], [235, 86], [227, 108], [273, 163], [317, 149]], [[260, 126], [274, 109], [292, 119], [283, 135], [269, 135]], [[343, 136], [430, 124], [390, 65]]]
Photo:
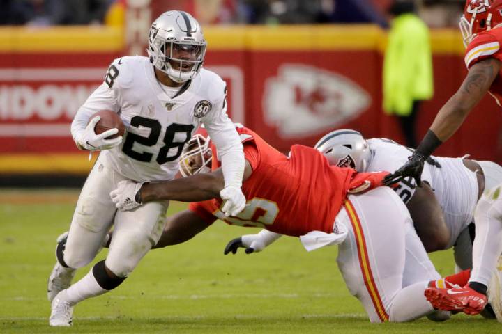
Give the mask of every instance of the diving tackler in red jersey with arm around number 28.
[[[112, 199], [121, 210], [160, 198], [201, 201], [167, 218], [158, 247], [186, 241], [217, 218], [265, 229], [232, 240], [225, 253], [236, 253], [238, 247], [245, 247], [246, 253], [262, 250], [281, 234], [300, 237], [307, 250], [338, 244], [338, 267], [371, 321], [409, 321], [437, 314], [423, 294], [429, 282], [435, 285], [441, 278], [409, 212], [388, 187], [374, 189], [387, 173], [330, 166], [321, 152], [301, 145], [294, 145], [286, 157], [250, 129], [240, 127], [238, 133], [244, 145], [243, 192], [248, 202], [237, 216], [221, 212], [218, 152], [201, 136], [187, 146], [181, 170], [190, 175], [212, 163], [213, 173], [151, 184], [122, 182], [112, 191]], [[465, 284], [468, 276], [462, 272], [438, 284]]]

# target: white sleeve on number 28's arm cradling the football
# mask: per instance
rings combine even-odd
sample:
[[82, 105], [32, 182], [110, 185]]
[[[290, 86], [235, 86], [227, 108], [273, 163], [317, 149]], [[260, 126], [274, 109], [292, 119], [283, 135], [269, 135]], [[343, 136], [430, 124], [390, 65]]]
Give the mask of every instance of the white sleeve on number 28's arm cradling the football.
[[71, 134], [75, 143], [78, 143], [78, 139], [84, 133], [89, 118], [91, 118], [94, 113], [101, 110], [112, 110], [115, 112], [120, 110], [119, 103], [116, 100], [113, 90], [104, 82], [89, 95], [86, 102], [80, 106], [75, 114], [75, 118], [73, 118]]

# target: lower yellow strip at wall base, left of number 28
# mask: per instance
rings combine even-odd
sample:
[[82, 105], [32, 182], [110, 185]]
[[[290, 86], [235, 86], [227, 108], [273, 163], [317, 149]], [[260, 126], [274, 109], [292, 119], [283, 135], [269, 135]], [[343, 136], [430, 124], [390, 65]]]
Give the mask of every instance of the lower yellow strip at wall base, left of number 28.
[[85, 175], [98, 154], [88, 160], [89, 152], [70, 154], [1, 154], [1, 174], [66, 173]]

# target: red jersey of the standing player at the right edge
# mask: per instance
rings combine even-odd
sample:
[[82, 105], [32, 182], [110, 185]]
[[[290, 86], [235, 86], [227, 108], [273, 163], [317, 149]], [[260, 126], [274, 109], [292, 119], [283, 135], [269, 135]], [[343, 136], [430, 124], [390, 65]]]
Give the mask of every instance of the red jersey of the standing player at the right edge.
[[[466, 49], [464, 61], [467, 68], [487, 58], [495, 58], [502, 61], [502, 27], [483, 31], [469, 43]], [[502, 69], [495, 78], [489, 93], [495, 98], [497, 104], [502, 106]]]

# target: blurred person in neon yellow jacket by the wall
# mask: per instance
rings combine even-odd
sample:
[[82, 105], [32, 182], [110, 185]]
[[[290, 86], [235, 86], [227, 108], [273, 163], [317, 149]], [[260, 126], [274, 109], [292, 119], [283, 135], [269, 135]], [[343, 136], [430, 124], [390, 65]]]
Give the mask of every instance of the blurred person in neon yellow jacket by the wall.
[[396, 0], [383, 61], [383, 109], [400, 120], [406, 145], [416, 148], [416, 116], [433, 95], [429, 29], [412, 0]]

